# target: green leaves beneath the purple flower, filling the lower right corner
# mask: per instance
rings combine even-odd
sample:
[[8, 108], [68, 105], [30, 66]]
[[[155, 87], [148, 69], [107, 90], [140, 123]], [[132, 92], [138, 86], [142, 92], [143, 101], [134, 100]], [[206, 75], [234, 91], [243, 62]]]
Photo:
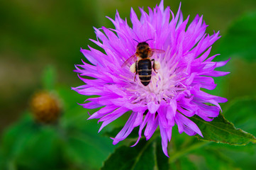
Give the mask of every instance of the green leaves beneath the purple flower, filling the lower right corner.
[[[255, 98], [244, 98], [233, 101], [226, 108], [225, 115], [234, 120], [238, 128], [245, 128], [255, 132], [256, 118]], [[245, 116], [247, 115], [247, 116]], [[256, 157], [255, 145], [247, 145], [255, 142], [255, 137], [243, 130], [234, 127], [223, 114], [212, 122], [201, 120], [198, 116], [191, 118], [204, 135], [206, 142], [196, 140], [187, 135], [180, 135], [174, 126], [172, 140], [169, 143], [169, 158], [162, 152], [159, 132], [148, 142], [141, 140], [135, 147], [121, 146], [111, 154], [101, 169], [250, 169], [255, 166], [253, 159]], [[121, 128], [116, 128], [106, 135], [116, 134]], [[134, 139], [135, 133], [128, 137]], [[198, 137], [199, 138], [199, 137]], [[211, 142], [207, 142], [211, 141]], [[213, 142], [214, 141], [214, 142]], [[218, 144], [217, 144], [218, 143]], [[223, 144], [221, 144], [223, 143]], [[224, 145], [225, 144], [225, 145]], [[227, 145], [231, 144], [231, 145]], [[236, 147], [234, 145], [237, 145]], [[240, 147], [238, 147], [238, 145]], [[241, 147], [241, 145], [247, 145]], [[248, 153], [246, 153], [248, 152]], [[240, 159], [240, 163], [238, 160]], [[241, 161], [241, 159], [243, 161]], [[243, 163], [243, 162], [246, 162]]]

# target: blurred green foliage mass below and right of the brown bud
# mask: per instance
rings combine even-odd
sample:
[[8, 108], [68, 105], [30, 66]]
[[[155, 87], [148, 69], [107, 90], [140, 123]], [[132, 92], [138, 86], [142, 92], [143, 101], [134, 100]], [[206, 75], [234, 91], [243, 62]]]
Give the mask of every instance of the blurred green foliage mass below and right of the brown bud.
[[[48, 81], [48, 79], [46, 79]], [[97, 134], [96, 121], [86, 122], [86, 109], [77, 106], [81, 96], [58, 86], [63, 115], [55, 125], [34, 123], [30, 112], [4, 132], [0, 169], [99, 169], [113, 152], [111, 140]]]

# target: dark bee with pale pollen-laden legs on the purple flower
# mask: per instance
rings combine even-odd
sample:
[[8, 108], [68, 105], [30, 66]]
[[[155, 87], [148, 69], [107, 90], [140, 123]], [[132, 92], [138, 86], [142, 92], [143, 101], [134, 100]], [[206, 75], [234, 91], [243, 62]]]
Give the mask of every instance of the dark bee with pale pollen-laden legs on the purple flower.
[[134, 81], [136, 79], [136, 75], [138, 74], [140, 82], [144, 86], [148, 86], [148, 84], [150, 84], [152, 69], [155, 72], [157, 69], [160, 69], [160, 63], [155, 61], [155, 59], [151, 60], [150, 57], [152, 57], [154, 52], [165, 52], [164, 50], [151, 49], [147, 41], [148, 40], [144, 42], [137, 41], [138, 45], [135, 54], [130, 56], [128, 60], [126, 60], [126, 62], [124, 62], [121, 66], [125, 67], [126, 64], [131, 62], [131, 60], [135, 60], [136, 57], [138, 57], [138, 60], [135, 60], [135, 62], [130, 66], [130, 72], [135, 73]]

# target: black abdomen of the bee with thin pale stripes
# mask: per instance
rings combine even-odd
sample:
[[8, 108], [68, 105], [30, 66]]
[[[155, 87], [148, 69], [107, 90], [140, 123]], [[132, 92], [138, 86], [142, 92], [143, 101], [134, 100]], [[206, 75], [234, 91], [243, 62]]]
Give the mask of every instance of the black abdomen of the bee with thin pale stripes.
[[140, 78], [140, 82], [144, 86], [150, 84], [151, 74], [152, 74], [152, 64], [151, 60], [139, 60], [137, 66], [137, 72]]

